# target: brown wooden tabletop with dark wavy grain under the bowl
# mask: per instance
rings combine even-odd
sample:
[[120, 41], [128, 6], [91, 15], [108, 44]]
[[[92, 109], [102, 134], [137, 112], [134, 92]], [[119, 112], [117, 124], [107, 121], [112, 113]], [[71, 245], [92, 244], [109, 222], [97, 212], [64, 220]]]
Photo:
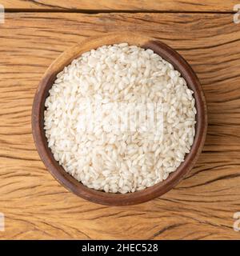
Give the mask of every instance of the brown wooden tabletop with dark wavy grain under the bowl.
[[[2, 239], [238, 239], [240, 211], [240, 1], [2, 0], [0, 212]], [[58, 184], [31, 134], [35, 90], [46, 68], [82, 38], [117, 30], [150, 34], [193, 66], [206, 94], [206, 145], [194, 170], [138, 206], [86, 202]]]

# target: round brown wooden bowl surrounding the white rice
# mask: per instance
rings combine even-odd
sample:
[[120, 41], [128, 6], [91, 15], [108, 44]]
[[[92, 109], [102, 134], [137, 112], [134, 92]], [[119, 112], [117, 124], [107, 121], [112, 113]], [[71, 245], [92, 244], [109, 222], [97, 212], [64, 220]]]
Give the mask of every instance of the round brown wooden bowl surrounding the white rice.
[[[70, 174], [63, 170], [62, 166], [55, 161], [53, 154], [47, 146], [45, 130], [43, 130], [43, 117], [46, 97], [49, 95], [50, 87], [56, 78], [56, 75], [78, 58], [82, 53], [96, 49], [98, 46], [110, 45], [114, 43], [128, 42], [130, 45], [141, 46], [142, 48], [150, 48], [156, 54], [162, 56], [166, 61], [170, 62], [176, 70], [178, 70], [182, 77], [185, 78], [191, 90], [194, 90], [195, 105], [197, 108], [197, 123], [195, 125], [196, 134], [194, 137], [194, 144], [191, 147], [190, 153], [186, 154], [185, 161], [163, 182], [134, 193], [129, 194], [111, 194], [98, 190], [93, 190], [87, 186], [82, 185]], [[61, 54], [46, 70], [42, 81], [38, 86], [35, 94], [34, 104], [32, 109], [32, 130], [34, 135], [34, 142], [36, 144], [38, 154], [42, 158], [46, 168], [50, 173], [65, 186], [68, 190], [74, 192], [78, 196], [85, 198], [91, 202], [96, 202], [111, 206], [127, 206], [134, 205], [141, 202], [146, 202], [150, 199], [166, 193], [173, 188], [194, 166], [199, 154], [202, 151], [202, 146], [206, 137], [207, 117], [206, 117], [206, 102], [202, 92], [202, 87], [198, 78], [189, 64], [174, 51], [170, 46], [159, 42], [150, 37], [145, 37], [139, 34], [106, 34], [94, 38], [87, 38], [79, 42], [77, 45], [71, 47]]]

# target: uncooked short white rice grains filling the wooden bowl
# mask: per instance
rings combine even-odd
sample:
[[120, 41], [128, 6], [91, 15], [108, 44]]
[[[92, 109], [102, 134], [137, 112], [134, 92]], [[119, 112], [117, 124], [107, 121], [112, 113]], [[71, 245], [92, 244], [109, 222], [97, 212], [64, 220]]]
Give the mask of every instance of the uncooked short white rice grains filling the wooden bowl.
[[[154, 186], [190, 152], [193, 93], [153, 50], [127, 43], [90, 50], [57, 75], [46, 98], [48, 146], [67, 173], [95, 190], [124, 194]], [[111, 118], [118, 117], [121, 104], [138, 108], [148, 103], [162, 106], [157, 129], [141, 123], [135, 130], [112, 129]], [[95, 121], [91, 129], [89, 106]]]

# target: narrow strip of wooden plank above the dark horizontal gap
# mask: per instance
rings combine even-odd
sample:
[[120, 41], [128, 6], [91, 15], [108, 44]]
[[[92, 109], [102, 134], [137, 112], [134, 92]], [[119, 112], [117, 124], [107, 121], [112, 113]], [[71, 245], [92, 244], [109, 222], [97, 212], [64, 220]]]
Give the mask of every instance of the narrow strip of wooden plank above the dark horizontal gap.
[[232, 12], [238, 0], [2, 0], [7, 10]]

